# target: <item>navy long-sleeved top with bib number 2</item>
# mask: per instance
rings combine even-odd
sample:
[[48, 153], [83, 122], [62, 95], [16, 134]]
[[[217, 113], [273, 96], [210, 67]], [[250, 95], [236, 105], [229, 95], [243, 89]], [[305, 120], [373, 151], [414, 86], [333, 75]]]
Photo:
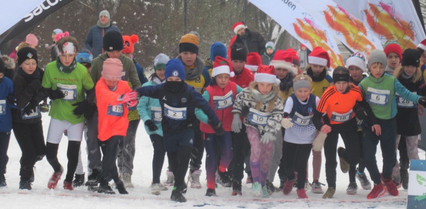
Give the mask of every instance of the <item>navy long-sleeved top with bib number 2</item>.
[[200, 108], [207, 115], [213, 126], [219, 123], [219, 119], [211, 109], [210, 104], [192, 86], [184, 83], [181, 88], [171, 92], [166, 89], [166, 84], [167, 82], [136, 88], [139, 95], [159, 99], [163, 132], [172, 133], [193, 128], [194, 122], [198, 121], [195, 116], [195, 107]]

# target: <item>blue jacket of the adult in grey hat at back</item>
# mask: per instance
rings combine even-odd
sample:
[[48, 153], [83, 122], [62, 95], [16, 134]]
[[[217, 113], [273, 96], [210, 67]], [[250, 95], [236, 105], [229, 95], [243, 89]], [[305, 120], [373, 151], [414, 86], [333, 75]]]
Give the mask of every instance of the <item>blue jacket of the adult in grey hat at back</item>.
[[105, 33], [110, 30], [116, 30], [120, 32], [118, 27], [112, 24], [109, 25], [109, 27], [99, 27], [97, 25], [90, 27], [89, 32], [86, 35], [86, 39], [84, 40], [84, 46], [91, 51], [93, 58], [103, 53], [103, 35], [105, 35]]

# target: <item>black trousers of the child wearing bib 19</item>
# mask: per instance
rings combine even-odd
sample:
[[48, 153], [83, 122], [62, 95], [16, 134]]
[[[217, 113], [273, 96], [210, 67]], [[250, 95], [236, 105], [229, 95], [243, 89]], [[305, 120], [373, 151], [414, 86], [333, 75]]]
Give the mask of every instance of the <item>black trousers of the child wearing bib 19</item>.
[[297, 172], [297, 189], [304, 188], [306, 181], [306, 164], [309, 160], [310, 150], [312, 149], [311, 143], [297, 144], [284, 141], [282, 144], [284, 152], [282, 158], [284, 159], [285, 176], [288, 179], [294, 179], [294, 171]]

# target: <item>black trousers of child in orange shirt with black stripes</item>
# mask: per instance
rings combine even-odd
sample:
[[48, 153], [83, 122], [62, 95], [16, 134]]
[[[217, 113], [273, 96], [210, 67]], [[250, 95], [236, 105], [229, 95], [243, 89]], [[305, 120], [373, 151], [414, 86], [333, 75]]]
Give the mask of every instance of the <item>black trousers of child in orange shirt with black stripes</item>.
[[343, 139], [345, 150], [340, 153], [341, 157], [349, 163], [349, 165], [356, 166], [360, 158], [360, 146], [357, 133], [356, 119], [352, 118], [349, 121], [332, 124], [331, 132], [327, 134], [324, 142], [324, 155], [325, 155], [325, 177], [327, 179], [328, 187], [336, 187], [336, 154], [337, 154], [337, 141], [338, 134]]

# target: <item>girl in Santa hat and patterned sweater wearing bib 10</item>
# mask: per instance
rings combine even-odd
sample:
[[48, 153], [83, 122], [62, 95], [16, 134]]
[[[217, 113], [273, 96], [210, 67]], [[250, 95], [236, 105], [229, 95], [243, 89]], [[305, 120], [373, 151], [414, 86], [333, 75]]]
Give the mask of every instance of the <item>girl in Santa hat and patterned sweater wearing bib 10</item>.
[[281, 128], [279, 122], [283, 114], [284, 105], [278, 85], [279, 79], [275, 77], [273, 66], [262, 65], [257, 69], [250, 86], [237, 95], [232, 109], [232, 131], [240, 131], [240, 115], [244, 116], [251, 145], [252, 189], [255, 195], [263, 197], [268, 196], [265, 180], [269, 172], [273, 140]]

